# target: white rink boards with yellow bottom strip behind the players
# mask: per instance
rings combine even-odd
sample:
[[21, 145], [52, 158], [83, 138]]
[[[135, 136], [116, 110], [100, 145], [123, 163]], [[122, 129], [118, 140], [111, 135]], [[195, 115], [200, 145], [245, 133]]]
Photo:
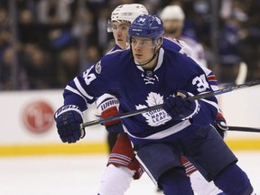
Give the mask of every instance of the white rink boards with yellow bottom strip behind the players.
[[[260, 88], [245, 88], [218, 97], [228, 125], [260, 127]], [[58, 153], [107, 153], [106, 129], [86, 128], [86, 137], [77, 144], [62, 144], [53, 122], [62, 105], [61, 90], [33, 90], [0, 93], [0, 155]], [[97, 119], [92, 107], [85, 120]], [[260, 150], [260, 133], [228, 132], [233, 150]]]

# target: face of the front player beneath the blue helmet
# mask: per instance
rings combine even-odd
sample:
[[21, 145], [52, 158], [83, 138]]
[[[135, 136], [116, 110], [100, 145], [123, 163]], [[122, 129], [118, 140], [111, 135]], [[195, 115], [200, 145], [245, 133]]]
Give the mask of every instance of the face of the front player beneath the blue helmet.
[[131, 47], [135, 62], [144, 64], [153, 58], [153, 40], [145, 37], [132, 37]]

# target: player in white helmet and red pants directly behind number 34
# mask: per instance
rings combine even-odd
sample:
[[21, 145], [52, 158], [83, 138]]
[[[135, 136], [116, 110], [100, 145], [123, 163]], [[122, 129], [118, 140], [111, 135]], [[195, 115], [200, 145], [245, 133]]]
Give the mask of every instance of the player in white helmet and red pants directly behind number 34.
[[[116, 7], [111, 14], [111, 18], [107, 26], [107, 32], [113, 32], [116, 46], [109, 52], [129, 49], [129, 43], [127, 42], [128, 29], [130, 24], [133, 23], [135, 18], [140, 14], [148, 14], [144, 5], [126, 4], [118, 5]], [[174, 51], [179, 51], [181, 53], [185, 53], [186, 55], [193, 56], [193, 50], [188, 48], [185, 42], [165, 38], [163, 41], [163, 47], [171, 47]], [[217, 82], [215, 76], [208, 69], [205, 69], [204, 71], [209, 79], [211, 87], [216, 88]], [[118, 115], [117, 107], [119, 105], [116, 97], [109, 94], [104, 94], [102, 97], [98, 98], [96, 102], [98, 111], [103, 118]], [[109, 147], [112, 148], [112, 151], [109, 154], [107, 168], [101, 177], [98, 194], [122, 195], [125, 194], [125, 191], [130, 187], [131, 181], [133, 181], [133, 179], [139, 179], [144, 171], [135, 159], [135, 153], [133, 152], [132, 145], [127, 134], [117, 133], [122, 128], [120, 120], [108, 122], [103, 125], [107, 128]], [[111, 142], [111, 140], [113, 140], [111, 137], [116, 138], [116, 144]], [[196, 172], [195, 167], [183, 156], [181, 157], [181, 163], [185, 165], [185, 170], [187, 175], [190, 176], [190, 181], [194, 174], [197, 175], [196, 180], [194, 180], [193, 177], [191, 185], [192, 189], [197, 192], [198, 195], [217, 195], [221, 193], [214, 183], [205, 181], [203, 176], [199, 174], [198, 171]], [[120, 185], [117, 185], [118, 182], [120, 182]], [[203, 193], [200, 189], [203, 190]]]

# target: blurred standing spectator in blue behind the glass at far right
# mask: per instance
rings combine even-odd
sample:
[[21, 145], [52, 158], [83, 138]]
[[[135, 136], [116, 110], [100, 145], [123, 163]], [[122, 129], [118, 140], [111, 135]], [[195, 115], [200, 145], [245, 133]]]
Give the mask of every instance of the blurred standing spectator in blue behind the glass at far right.
[[219, 31], [218, 48], [220, 64], [220, 82], [234, 83], [239, 73], [240, 62], [242, 61], [241, 30], [242, 23], [247, 21], [247, 15], [240, 9], [239, 4], [233, 3], [230, 11], [226, 10], [223, 24]]

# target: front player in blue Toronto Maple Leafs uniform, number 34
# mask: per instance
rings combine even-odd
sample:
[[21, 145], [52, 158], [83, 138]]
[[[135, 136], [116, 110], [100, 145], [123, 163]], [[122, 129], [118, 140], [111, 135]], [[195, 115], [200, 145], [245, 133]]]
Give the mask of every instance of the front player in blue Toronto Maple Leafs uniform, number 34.
[[131, 50], [103, 57], [65, 88], [64, 106], [55, 114], [61, 140], [79, 140], [82, 111], [105, 93], [118, 98], [122, 113], [163, 103], [163, 109], [122, 120], [139, 162], [163, 192], [193, 194], [181, 165], [183, 154], [226, 194], [253, 194], [236, 156], [210, 125], [217, 115], [217, 98], [187, 100], [212, 91], [205, 72], [190, 58], [161, 47], [160, 18], [137, 17], [129, 34]]

